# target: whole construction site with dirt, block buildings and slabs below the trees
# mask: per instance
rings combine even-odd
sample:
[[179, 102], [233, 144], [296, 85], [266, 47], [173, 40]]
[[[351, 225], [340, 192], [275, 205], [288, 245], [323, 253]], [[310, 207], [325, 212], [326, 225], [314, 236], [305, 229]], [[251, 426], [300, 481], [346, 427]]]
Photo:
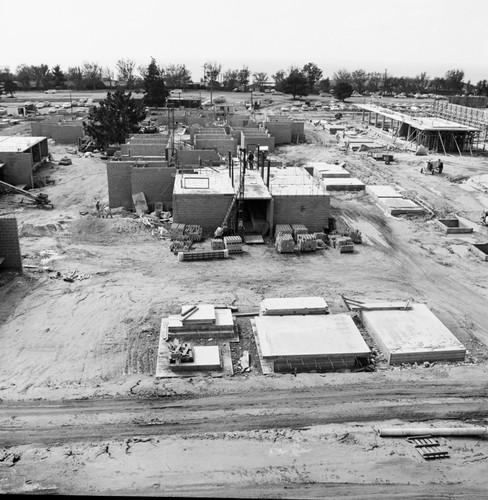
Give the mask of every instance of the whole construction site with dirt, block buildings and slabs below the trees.
[[486, 110], [181, 99], [2, 129], [0, 491], [483, 496]]

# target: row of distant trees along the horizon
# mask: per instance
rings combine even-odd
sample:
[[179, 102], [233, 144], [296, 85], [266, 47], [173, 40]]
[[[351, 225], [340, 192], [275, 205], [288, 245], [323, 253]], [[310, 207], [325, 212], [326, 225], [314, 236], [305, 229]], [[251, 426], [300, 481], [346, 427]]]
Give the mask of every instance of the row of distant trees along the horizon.
[[[153, 59], [151, 58], [151, 61]], [[155, 63], [157, 65], [157, 63]], [[13, 95], [17, 90], [74, 89], [97, 90], [114, 87], [125, 90], [142, 89], [149, 65], [137, 65], [132, 59], [119, 59], [115, 70], [100, 66], [96, 62], [84, 62], [81, 66], [49, 67], [47, 64], [21, 64], [15, 71], [0, 66], [0, 88], [5, 94]], [[277, 91], [296, 96], [331, 92], [346, 95], [358, 93], [392, 94], [475, 94], [488, 96], [487, 80], [476, 84], [464, 81], [462, 69], [452, 69], [443, 77], [430, 78], [426, 72], [415, 77], [394, 76], [380, 72], [367, 72], [363, 69], [349, 71], [339, 69], [332, 78], [323, 78], [323, 71], [313, 62], [302, 68], [290, 67], [275, 74], [251, 72], [247, 66], [238, 69], [222, 70], [217, 62], [206, 62], [203, 78], [198, 82], [192, 79], [191, 71], [185, 64], [157, 65], [158, 72], [169, 89], [211, 88], [222, 90], [263, 91], [269, 84]], [[252, 83], [251, 83], [252, 80]]]

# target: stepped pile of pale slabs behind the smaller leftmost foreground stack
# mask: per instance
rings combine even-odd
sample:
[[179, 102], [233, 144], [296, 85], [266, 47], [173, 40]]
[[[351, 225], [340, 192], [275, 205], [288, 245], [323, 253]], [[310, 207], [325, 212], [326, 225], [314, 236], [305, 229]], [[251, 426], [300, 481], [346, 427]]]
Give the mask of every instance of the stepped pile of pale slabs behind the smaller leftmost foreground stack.
[[[211, 304], [183, 306], [181, 314], [168, 316], [167, 337], [228, 337], [234, 335], [230, 309], [216, 309]], [[163, 322], [161, 323], [163, 326]]]

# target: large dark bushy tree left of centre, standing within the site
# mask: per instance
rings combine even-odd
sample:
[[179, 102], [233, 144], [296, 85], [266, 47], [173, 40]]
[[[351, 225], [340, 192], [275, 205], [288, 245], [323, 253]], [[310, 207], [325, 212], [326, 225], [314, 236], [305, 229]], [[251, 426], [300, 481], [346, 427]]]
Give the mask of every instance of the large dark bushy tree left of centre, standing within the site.
[[83, 123], [85, 134], [97, 147], [105, 149], [110, 144], [123, 144], [129, 134], [140, 130], [140, 122], [146, 118], [143, 103], [129, 92], [108, 92], [106, 99], [94, 106]]

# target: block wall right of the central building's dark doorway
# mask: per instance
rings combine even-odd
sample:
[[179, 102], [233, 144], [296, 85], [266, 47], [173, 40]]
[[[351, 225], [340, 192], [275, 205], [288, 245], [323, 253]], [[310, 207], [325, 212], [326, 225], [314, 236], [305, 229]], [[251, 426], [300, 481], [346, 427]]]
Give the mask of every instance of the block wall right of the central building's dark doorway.
[[329, 227], [330, 196], [273, 196], [273, 224], [303, 224], [309, 232]]

